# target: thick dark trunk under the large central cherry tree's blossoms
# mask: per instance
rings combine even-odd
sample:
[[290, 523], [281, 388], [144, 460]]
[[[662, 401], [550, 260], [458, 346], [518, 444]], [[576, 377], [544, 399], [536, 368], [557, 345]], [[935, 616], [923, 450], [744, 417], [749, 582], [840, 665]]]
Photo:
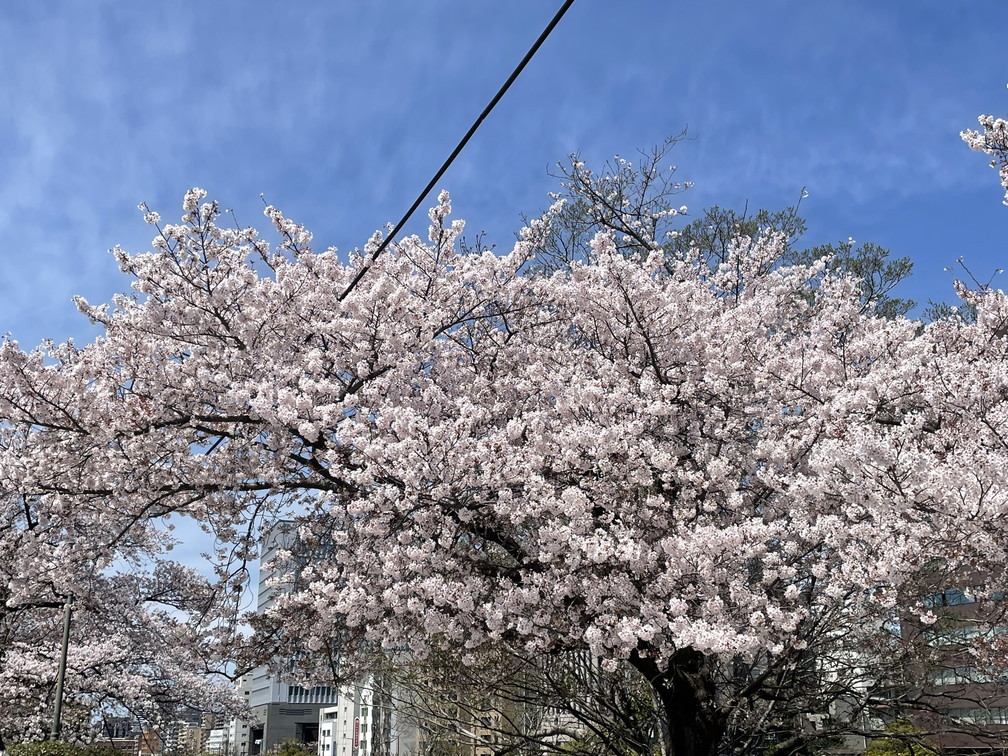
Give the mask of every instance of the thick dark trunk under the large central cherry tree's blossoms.
[[710, 660], [684, 648], [664, 666], [637, 654], [630, 662], [647, 677], [660, 705], [665, 756], [717, 756], [725, 716], [718, 707]]

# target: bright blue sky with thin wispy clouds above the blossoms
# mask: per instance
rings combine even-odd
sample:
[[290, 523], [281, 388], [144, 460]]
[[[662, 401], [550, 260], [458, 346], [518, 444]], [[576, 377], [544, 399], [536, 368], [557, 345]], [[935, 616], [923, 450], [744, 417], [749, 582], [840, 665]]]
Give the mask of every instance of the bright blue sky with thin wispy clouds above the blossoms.
[[[408, 207], [551, 17], [550, 0], [6, 5], [0, 19], [0, 333], [92, 335], [71, 296], [128, 286], [107, 250], [150, 240], [200, 185], [264, 227], [260, 193], [348, 250]], [[1003, 28], [948, 2], [578, 0], [439, 187], [508, 246], [547, 170], [688, 127], [691, 209], [779, 208], [811, 242], [909, 255], [904, 295], [1003, 265], [1008, 208], [959, 140], [1008, 111]], [[423, 214], [413, 228], [420, 228]]]

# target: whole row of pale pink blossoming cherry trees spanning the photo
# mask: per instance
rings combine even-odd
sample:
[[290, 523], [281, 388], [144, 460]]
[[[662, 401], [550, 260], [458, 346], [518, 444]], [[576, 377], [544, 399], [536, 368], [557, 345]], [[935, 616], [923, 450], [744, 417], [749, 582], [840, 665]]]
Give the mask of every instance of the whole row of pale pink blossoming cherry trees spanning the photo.
[[[72, 699], [226, 707], [203, 673], [257, 524], [291, 509], [332, 557], [245, 648], [305, 675], [587, 652], [644, 676], [677, 756], [921, 704], [875, 668], [898, 628], [965, 585], [993, 622], [1006, 583], [1008, 300], [961, 287], [975, 319], [921, 325], [786, 233], [676, 244], [655, 171], [575, 163], [505, 254], [461, 242], [447, 194], [374, 262], [378, 236], [316, 252], [269, 208], [270, 247], [198, 190], [180, 223], [148, 212], [152, 251], [116, 252], [134, 293], [78, 302], [103, 336], [0, 349], [0, 732], [37, 733], [67, 600]], [[216, 588], [159, 560], [175, 515], [237, 544]]]

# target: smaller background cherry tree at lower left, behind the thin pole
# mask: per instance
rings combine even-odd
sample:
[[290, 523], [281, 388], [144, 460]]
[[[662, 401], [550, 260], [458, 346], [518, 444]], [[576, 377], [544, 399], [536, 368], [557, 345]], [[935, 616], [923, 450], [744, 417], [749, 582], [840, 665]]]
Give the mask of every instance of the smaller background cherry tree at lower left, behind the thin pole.
[[214, 654], [213, 625], [223, 612], [211, 583], [191, 568], [152, 560], [150, 546], [164, 535], [150, 523], [130, 523], [115, 544], [114, 532], [99, 531], [96, 514], [86, 503], [52, 497], [4, 500], [0, 739], [49, 734], [68, 604], [64, 737], [89, 737], [103, 715], [156, 723], [187, 707], [240, 708]]

